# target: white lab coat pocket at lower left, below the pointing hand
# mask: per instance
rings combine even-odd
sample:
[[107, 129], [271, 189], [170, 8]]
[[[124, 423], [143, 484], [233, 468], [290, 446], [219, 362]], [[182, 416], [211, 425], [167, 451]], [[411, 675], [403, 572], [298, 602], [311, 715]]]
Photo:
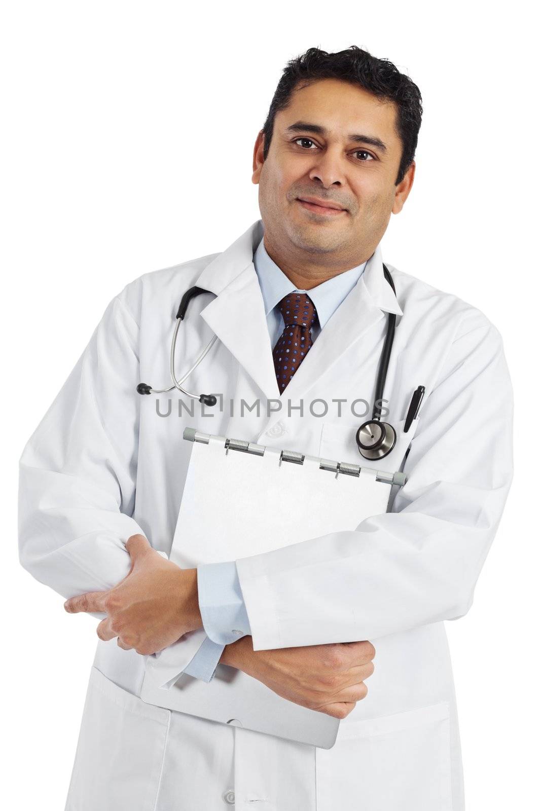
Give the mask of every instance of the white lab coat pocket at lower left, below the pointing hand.
[[65, 811], [154, 811], [170, 715], [92, 667]]

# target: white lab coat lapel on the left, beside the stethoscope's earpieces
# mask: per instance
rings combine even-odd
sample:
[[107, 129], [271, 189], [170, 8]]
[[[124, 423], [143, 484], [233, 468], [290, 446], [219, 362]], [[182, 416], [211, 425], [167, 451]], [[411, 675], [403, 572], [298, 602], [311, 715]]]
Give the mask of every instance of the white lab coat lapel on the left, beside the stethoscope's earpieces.
[[260, 283], [253, 255], [263, 237], [258, 220], [210, 262], [195, 285], [217, 295], [201, 316], [268, 399], [279, 397]]

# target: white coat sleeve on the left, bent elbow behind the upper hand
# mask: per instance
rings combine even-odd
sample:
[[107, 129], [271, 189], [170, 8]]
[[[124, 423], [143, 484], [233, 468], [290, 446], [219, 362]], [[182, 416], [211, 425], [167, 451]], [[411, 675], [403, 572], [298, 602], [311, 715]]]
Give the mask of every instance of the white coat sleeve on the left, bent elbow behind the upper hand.
[[64, 598], [115, 586], [127, 539], [146, 537], [132, 517], [139, 368], [139, 326], [117, 296], [20, 457], [19, 560]]

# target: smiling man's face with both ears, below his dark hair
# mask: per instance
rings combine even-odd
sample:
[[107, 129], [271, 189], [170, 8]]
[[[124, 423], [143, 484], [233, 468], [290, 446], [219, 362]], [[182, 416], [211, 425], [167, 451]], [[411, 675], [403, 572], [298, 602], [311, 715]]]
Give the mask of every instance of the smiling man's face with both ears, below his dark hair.
[[265, 161], [260, 131], [252, 182], [265, 247], [282, 269], [291, 261], [322, 277], [370, 258], [414, 178], [413, 164], [394, 185], [402, 149], [396, 113], [393, 102], [363, 88], [322, 79], [296, 89], [277, 113]]

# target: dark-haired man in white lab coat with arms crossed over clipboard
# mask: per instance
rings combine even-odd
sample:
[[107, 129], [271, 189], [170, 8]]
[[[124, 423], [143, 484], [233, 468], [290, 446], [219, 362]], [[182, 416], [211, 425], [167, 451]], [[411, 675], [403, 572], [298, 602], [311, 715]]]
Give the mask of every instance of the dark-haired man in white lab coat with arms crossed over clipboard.
[[[479, 310], [387, 261], [396, 293], [384, 277], [380, 242], [413, 184], [421, 111], [406, 75], [354, 46], [289, 62], [255, 141], [261, 220], [223, 253], [127, 285], [24, 448], [21, 563], [67, 611], [101, 620], [67, 811], [464, 808], [444, 620], [470, 608], [504, 508], [512, 394], [500, 335]], [[217, 186], [213, 210], [226, 203]], [[135, 393], [142, 380], [169, 385], [174, 318], [194, 285], [208, 292], [182, 321], [175, 372], [217, 336], [184, 383], [219, 395], [213, 407]], [[367, 461], [355, 435], [390, 315], [383, 418], [397, 441]], [[304, 354], [283, 385], [293, 330]], [[174, 537], [187, 425], [404, 470], [407, 482], [356, 530], [236, 561], [217, 539], [216, 564], [182, 570], [157, 552]], [[294, 494], [277, 508], [294, 521]], [[178, 674], [239, 667], [341, 718], [337, 743], [143, 702], [145, 663], [175, 643]]]

